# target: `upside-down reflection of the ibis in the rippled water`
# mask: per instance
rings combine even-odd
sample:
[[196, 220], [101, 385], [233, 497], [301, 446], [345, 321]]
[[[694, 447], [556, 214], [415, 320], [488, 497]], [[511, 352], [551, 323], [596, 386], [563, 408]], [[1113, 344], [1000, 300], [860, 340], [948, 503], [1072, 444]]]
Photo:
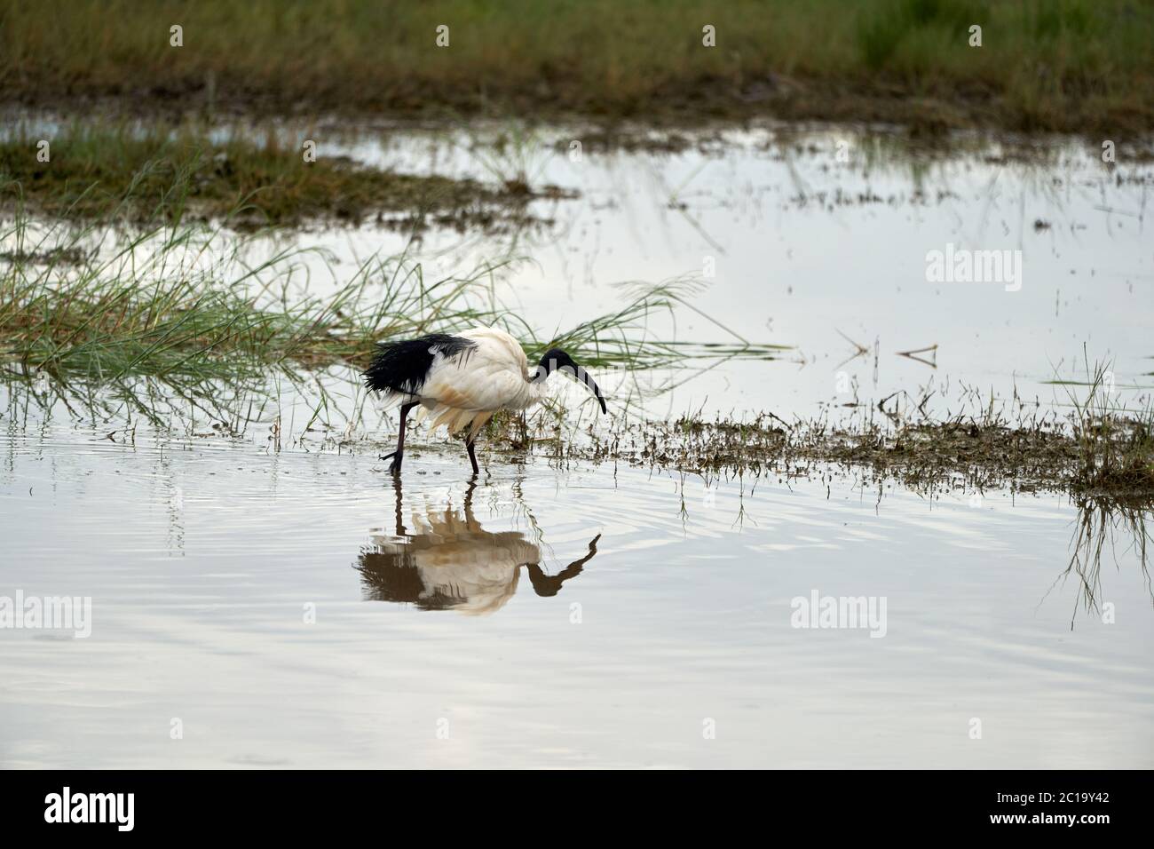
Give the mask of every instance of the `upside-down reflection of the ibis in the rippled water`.
[[481, 527], [473, 515], [473, 485], [465, 494], [464, 515], [451, 506], [414, 511], [412, 534], [402, 520], [399, 478], [394, 486], [397, 534], [373, 537], [357, 563], [367, 598], [409, 602], [424, 610], [492, 613], [517, 591], [522, 566], [537, 595], [554, 596], [562, 583], [580, 574], [601, 538], [599, 534], [590, 542], [585, 557], [549, 575], [541, 569], [540, 548], [522, 533]]

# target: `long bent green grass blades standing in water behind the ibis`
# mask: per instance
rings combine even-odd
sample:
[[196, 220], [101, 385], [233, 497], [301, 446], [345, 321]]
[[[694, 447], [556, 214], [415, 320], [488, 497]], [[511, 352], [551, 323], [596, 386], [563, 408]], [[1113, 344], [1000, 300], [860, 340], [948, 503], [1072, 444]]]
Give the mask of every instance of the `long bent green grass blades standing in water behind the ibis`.
[[[500, 267], [427, 280], [410, 256], [372, 256], [319, 297], [304, 285], [315, 274], [305, 252], [252, 267], [243, 239], [200, 224], [43, 231], [21, 210], [0, 244], [0, 364], [25, 373], [261, 379], [272, 370], [364, 366], [377, 342], [477, 325], [504, 327], [530, 356], [564, 345], [590, 367], [674, 367], [694, 357], [647, 332], [658, 313], [694, 293], [688, 281], [634, 284], [616, 312], [545, 334], [501, 307]], [[764, 358], [772, 349], [739, 345], [725, 356], [743, 355]]]

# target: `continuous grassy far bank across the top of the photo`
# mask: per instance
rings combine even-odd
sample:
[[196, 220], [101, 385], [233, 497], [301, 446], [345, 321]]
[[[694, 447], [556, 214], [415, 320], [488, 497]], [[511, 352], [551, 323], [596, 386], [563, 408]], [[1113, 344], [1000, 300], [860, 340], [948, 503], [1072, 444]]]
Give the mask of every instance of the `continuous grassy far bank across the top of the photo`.
[[[183, 46], [170, 46], [170, 27]], [[436, 27], [450, 45], [435, 45]], [[717, 28], [704, 47], [702, 28]], [[983, 44], [967, 43], [971, 24]], [[0, 2], [9, 103], [1154, 126], [1134, 0]]]

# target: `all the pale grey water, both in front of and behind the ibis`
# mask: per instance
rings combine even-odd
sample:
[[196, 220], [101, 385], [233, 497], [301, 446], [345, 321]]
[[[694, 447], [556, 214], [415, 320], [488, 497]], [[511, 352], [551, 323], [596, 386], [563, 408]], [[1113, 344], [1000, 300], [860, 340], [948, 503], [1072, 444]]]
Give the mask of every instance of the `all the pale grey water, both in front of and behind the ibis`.
[[[1149, 165], [1061, 140], [927, 158], [837, 129], [580, 162], [554, 141], [517, 154], [580, 192], [534, 203], [553, 228], [430, 231], [414, 255], [429, 277], [527, 258], [499, 295], [546, 332], [619, 306], [613, 281], [692, 274], [677, 338], [793, 345], [662, 375], [684, 382], [651, 412], [809, 417], [902, 390], [941, 412], [1014, 389], [1061, 410], [1046, 381], [1085, 377], [1084, 345], [1112, 359], [1117, 400], [1149, 397]], [[496, 167], [444, 133], [325, 150]], [[305, 258], [323, 288], [406, 238], [320, 228], [249, 251], [324, 247]], [[929, 283], [947, 243], [1021, 250], [1020, 290]], [[934, 343], [936, 368], [898, 356]], [[47, 415], [0, 386], [0, 604], [92, 604], [87, 638], [0, 630], [0, 766], [1154, 765], [1152, 595], [1123, 526], [1084, 584], [1064, 579], [1080, 515], [1058, 496], [541, 456], [486, 456], [471, 486], [456, 446], [420, 438], [398, 487], [339, 371], [322, 415], [294, 389], [235, 439], [180, 402], [162, 432], [122, 400]], [[884, 617], [795, 627], [814, 594]]]

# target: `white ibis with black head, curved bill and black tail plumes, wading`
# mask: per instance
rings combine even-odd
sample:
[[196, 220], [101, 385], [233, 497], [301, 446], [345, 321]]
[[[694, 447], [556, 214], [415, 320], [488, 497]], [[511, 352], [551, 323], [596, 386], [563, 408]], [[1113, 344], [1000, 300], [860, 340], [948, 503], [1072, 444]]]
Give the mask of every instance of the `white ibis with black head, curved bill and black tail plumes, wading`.
[[504, 330], [477, 327], [459, 334], [432, 334], [399, 342], [381, 342], [365, 382], [400, 403], [400, 431], [390, 471], [400, 471], [405, 454], [405, 419], [420, 405], [433, 429], [449, 433], [469, 429], [465, 446], [473, 474], [478, 472], [473, 441], [499, 410], [526, 410], [545, 397], [545, 381], [564, 371], [583, 382], [606, 411], [605, 397], [593, 378], [560, 348], [545, 352], [533, 368], [520, 344]]

